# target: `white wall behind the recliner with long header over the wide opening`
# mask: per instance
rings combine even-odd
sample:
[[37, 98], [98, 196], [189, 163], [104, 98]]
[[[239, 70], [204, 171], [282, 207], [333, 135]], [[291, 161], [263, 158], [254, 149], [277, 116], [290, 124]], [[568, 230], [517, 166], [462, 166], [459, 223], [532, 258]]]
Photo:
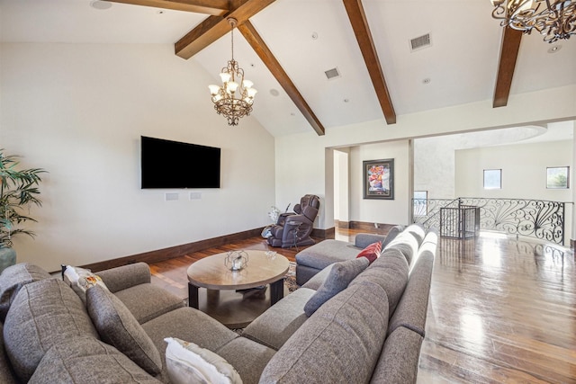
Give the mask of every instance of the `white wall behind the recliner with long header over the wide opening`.
[[[546, 103], [543, 100], [554, 100]], [[576, 120], [576, 85], [545, 89], [527, 94], [511, 94], [505, 108], [492, 108], [491, 100], [469, 103], [454, 107], [430, 110], [426, 112], [400, 115], [396, 124], [387, 125], [383, 119], [365, 121], [346, 126], [330, 127], [325, 136], [318, 136], [312, 130], [309, 133], [280, 137], [275, 139], [276, 148], [276, 203], [279, 206], [293, 201], [302, 192], [313, 191], [325, 197], [326, 187], [322, 183], [325, 174], [333, 169], [326, 166], [324, 153], [326, 148], [364, 146], [374, 142], [392, 142], [408, 138], [428, 138], [457, 132], [471, 132], [485, 129], [501, 129], [518, 126], [543, 124], [549, 121]], [[407, 152], [408, 153], [408, 152]], [[375, 158], [382, 158], [377, 156]], [[405, 158], [410, 161], [409, 156]], [[352, 162], [351, 162], [352, 164]], [[353, 165], [351, 165], [353, 166]], [[352, 171], [351, 171], [352, 172]], [[396, 173], [401, 182], [409, 174]], [[352, 177], [352, 176], [351, 176]], [[352, 182], [351, 184], [353, 184]], [[397, 181], [396, 183], [399, 183]], [[406, 182], [407, 185], [409, 184]], [[451, 183], [451, 182], [449, 182]], [[352, 188], [352, 187], [351, 187]], [[404, 191], [409, 193], [410, 191]], [[400, 193], [400, 192], [399, 192]], [[360, 195], [361, 196], [361, 195]], [[401, 195], [397, 195], [401, 196]], [[328, 199], [329, 196], [326, 196]], [[355, 201], [358, 195], [351, 191], [350, 220], [373, 221], [372, 212], [362, 210], [352, 213], [352, 205], [360, 207]], [[409, 204], [408, 196], [401, 196]], [[394, 211], [393, 218], [407, 219], [410, 206]], [[399, 215], [399, 216], [396, 216]], [[379, 216], [379, 215], [375, 215]], [[382, 222], [382, 220], [378, 220]], [[333, 218], [329, 218], [320, 207], [320, 219], [316, 228], [330, 228]], [[403, 221], [398, 221], [403, 222]]]

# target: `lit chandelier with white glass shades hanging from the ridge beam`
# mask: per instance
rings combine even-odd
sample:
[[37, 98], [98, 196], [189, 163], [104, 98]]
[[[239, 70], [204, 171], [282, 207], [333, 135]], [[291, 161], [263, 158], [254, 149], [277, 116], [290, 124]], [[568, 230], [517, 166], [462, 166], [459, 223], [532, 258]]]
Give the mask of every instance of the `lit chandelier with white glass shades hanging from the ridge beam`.
[[257, 90], [252, 88], [253, 83], [244, 78], [244, 69], [238, 67], [234, 59], [234, 28], [238, 21], [233, 17], [228, 19], [231, 27], [232, 58], [228, 66], [220, 71], [222, 85], [208, 85], [214, 109], [228, 119], [228, 125], [238, 125], [238, 119], [252, 112], [252, 103]]

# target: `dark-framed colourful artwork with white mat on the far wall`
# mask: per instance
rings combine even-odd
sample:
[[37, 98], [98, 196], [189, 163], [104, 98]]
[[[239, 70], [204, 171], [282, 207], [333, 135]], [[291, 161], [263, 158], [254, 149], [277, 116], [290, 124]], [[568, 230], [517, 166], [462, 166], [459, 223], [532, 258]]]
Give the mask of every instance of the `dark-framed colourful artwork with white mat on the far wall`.
[[394, 159], [365, 160], [364, 198], [394, 200]]

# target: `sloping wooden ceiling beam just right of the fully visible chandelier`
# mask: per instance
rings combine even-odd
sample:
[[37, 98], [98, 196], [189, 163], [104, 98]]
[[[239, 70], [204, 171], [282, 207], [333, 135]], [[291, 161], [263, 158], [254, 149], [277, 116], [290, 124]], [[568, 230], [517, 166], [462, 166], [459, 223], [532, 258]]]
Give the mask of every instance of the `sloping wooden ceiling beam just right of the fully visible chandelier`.
[[319, 136], [324, 135], [325, 130], [322, 126], [322, 123], [318, 120], [314, 112], [312, 112], [310, 106], [308, 103], [306, 103], [302, 97], [302, 94], [300, 94], [296, 88], [296, 85], [294, 85], [293, 81], [290, 79], [290, 77], [288, 77], [284, 71], [284, 68], [272, 54], [272, 51], [268, 49], [266, 42], [262, 40], [252, 23], [246, 21], [242, 25], [238, 26], [238, 30], [242, 33], [252, 49], [256, 51], [257, 55], [262, 59], [262, 61], [264, 61], [266, 67], [268, 67], [272, 75], [275, 76], [278, 83], [282, 85], [284, 91], [286, 91], [286, 94], [290, 96], [293, 103], [296, 104], [296, 107], [300, 110], [300, 112], [302, 112], [306, 120], [310, 122], [316, 133], [318, 133]]

